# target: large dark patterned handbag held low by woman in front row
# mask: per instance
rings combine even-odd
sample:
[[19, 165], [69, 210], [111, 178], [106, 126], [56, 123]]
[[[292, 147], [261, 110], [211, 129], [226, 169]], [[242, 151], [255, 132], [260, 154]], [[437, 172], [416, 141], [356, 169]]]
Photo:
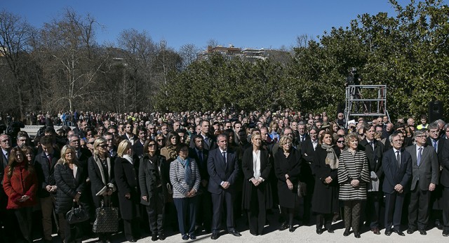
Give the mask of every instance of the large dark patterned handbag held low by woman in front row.
[[105, 206], [102, 200], [101, 206], [95, 210], [95, 222], [93, 223], [93, 232], [106, 233], [119, 231], [119, 208], [112, 204]]

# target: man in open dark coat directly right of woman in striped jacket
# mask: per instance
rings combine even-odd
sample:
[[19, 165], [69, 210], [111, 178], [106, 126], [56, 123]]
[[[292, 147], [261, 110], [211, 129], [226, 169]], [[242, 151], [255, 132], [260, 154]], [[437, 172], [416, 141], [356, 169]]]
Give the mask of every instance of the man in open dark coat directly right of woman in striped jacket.
[[382, 156], [384, 154], [384, 144], [374, 138], [375, 127], [367, 125], [365, 138], [360, 141], [361, 150], [365, 151], [370, 168], [370, 186], [368, 186], [368, 199], [366, 201], [366, 224], [370, 225], [371, 231], [375, 235], [380, 235], [380, 205], [383, 199], [380, 191], [380, 183], [383, 176]]

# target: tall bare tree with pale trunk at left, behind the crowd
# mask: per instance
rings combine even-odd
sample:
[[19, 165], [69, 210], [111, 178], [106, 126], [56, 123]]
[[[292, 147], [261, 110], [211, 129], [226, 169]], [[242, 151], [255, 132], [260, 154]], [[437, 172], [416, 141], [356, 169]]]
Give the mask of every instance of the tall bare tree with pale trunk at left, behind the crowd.
[[60, 20], [44, 25], [39, 51], [46, 68], [48, 107], [67, 107], [66, 100], [69, 110], [74, 110], [75, 105], [102, 93], [95, 87], [95, 77], [108, 56], [96, 48], [97, 25], [91, 15], [81, 16], [72, 9], [67, 9]]

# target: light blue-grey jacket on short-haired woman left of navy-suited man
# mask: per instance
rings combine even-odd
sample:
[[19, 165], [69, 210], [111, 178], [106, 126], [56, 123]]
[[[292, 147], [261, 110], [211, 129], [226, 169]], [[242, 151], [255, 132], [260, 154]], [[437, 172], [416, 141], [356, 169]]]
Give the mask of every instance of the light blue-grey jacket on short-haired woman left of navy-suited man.
[[[192, 180], [194, 181], [193, 189], [198, 192], [199, 183], [201, 182], [201, 176], [199, 175], [199, 169], [194, 159], [190, 159], [190, 169], [192, 169]], [[173, 198], [185, 198], [187, 192], [192, 190], [189, 185], [185, 183], [184, 178], [184, 166], [175, 159], [170, 163], [170, 183], [173, 185]]]

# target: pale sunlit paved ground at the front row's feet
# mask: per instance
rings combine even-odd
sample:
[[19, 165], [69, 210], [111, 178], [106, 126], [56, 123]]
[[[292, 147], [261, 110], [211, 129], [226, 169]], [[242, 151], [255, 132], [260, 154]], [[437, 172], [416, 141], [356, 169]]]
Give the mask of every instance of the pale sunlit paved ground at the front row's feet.
[[[362, 232], [361, 238], [356, 239], [354, 234], [348, 237], [343, 236], [344, 225], [342, 221], [337, 221], [333, 228], [335, 228], [335, 233], [330, 234], [327, 231], [323, 232], [322, 235], [317, 235], [315, 230], [315, 225], [296, 225], [295, 232], [289, 232], [288, 230], [279, 231], [279, 223], [277, 223], [277, 215], [271, 215], [268, 217], [269, 222], [274, 222], [272, 225], [267, 225], [265, 227], [265, 233], [261, 236], [253, 236], [250, 234], [248, 227], [243, 221], [237, 221], [237, 229], [241, 230], [241, 237], [234, 237], [227, 234], [227, 232], [222, 232], [217, 240], [210, 239], [210, 234], [198, 235], [195, 240], [184, 241], [181, 239], [180, 234], [173, 235], [168, 232], [168, 237], [164, 240], [164, 243], [171, 242], [246, 242], [246, 243], [256, 243], [256, 242], [448, 242], [448, 237], [443, 237], [441, 235], [441, 230], [437, 228], [432, 228], [427, 231], [427, 235], [420, 235], [419, 232], [413, 233], [413, 235], [407, 235], [406, 229], [404, 233], [406, 236], [401, 237], [395, 233], [391, 236], [384, 235], [384, 230], [381, 230], [381, 235], [374, 235], [373, 232]], [[295, 221], [296, 223], [300, 223]], [[94, 239], [87, 242], [96, 242]], [[126, 242], [123, 238], [123, 234], [114, 235], [112, 242]], [[152, 242], [151, 237], [147, 236], [143, 239], [139, 239], [138, 242]], [[162, 242], [160, 240], [156, 242]]]

